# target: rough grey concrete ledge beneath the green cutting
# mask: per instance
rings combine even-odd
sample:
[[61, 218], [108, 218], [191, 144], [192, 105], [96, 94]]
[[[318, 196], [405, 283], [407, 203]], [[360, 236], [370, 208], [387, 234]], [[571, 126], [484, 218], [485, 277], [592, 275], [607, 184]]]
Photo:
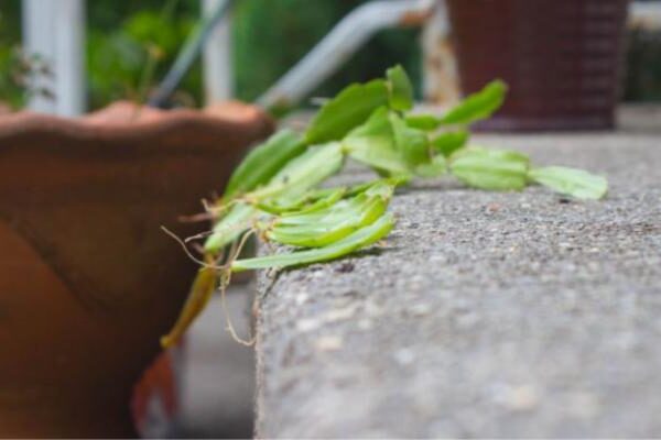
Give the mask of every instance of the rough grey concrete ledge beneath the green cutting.
[[478, 141], [610, 195], [426, 183], [378, 251], [262, 274], [259, 437], [661, 436], [658, 134]]

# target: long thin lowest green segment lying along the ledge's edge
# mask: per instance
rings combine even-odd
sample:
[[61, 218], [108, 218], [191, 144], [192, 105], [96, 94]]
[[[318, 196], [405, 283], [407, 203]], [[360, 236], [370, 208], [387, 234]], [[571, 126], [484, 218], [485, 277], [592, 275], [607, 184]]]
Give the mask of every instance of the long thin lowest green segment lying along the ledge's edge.
[[290, 267], [339, 258], [378, 242], [388, 235], [393, 226], [394, 219], [392, 216], [384, 215], [372, 224], [361, 228], [327, 246], [256, 258], [237, 260], [231, 264], [231, 270], [232, 272], [242, 272], [268, 267]]

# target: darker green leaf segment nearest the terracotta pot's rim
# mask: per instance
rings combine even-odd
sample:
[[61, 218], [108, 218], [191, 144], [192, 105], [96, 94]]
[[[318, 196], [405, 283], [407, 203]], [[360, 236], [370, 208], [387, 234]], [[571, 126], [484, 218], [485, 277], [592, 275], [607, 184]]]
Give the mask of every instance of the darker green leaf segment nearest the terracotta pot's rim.
[[225, 189], [226, 198], [267, 184], [280, 168], [304, 151], [305, 143], [293, 131], [284, 129], [273, 134], [254, 147], [232, 173]]

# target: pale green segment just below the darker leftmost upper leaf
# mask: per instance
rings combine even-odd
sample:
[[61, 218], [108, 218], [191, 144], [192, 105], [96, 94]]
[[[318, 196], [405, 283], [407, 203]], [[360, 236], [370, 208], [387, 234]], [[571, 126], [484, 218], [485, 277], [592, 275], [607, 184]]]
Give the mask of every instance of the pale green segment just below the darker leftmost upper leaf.
[[338, 142], [311, 146], [305, 153], [290, 161], [264, 187], [246, 197], [263, 200], [277, 197], [277, 201], [299, 199], [307, 190], [336, 174], [343, 165], [344, 154]]

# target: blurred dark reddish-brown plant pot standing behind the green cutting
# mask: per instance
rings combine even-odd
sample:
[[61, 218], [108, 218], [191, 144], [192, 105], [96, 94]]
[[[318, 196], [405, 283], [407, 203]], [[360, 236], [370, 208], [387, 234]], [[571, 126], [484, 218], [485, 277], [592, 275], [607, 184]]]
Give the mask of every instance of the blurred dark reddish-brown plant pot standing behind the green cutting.
[[610, 129], [628, 0], [448, 0], [462, 88], [510, 86], [490, 130]]

